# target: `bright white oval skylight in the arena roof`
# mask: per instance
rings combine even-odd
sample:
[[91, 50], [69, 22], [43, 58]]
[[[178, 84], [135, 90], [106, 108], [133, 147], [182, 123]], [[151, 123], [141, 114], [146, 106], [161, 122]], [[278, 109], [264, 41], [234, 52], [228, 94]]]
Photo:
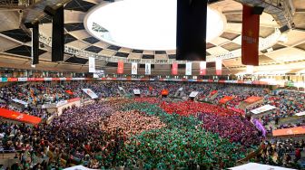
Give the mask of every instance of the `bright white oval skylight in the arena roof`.
[[[141, 50], [176, 49], [176, 0], [124, 0], [99, 5], [84, 19], [95, 38], [117, 46]], [[223, 14], [208, 7], [207, 42], [223, 33]]]

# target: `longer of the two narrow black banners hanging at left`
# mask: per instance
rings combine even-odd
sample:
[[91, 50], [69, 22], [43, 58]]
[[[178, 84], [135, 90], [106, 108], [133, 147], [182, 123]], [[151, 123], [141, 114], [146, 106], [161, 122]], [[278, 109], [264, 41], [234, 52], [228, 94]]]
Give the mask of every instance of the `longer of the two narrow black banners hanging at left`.
[[45, 6], [44, 13], [53, 16], [52, 61], [64, 61], [64, 6]]

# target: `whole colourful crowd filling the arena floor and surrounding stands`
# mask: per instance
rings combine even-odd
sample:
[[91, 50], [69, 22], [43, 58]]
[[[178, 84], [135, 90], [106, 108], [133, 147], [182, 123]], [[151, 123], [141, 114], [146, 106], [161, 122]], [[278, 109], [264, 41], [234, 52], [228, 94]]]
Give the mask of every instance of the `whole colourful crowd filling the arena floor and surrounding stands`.
[[[99, 99], [106, 100], [65, 109], [50, 124], [33, 127], [3, 120], [0, 124], [0, 150], [20, 152], [17, 157], [21, 160], [21, 169], [45, 166], [45, 162], [37, 163], [34, 157], [48, 157], [48, 165], [58, 167], [81, 164], [91, 168], [225, 168], [236, 165], [236, 161], [256, 150], [264, 140], [251, 121], [236, 111], [244, 99], [260, 96], [262, 102], [254, 107], [271, 104], [277, 108], [261, 117], [264, 125], [305, 111], [304, 93], [282, 90], [274, 96], [263, 88], [191, 83], [72, 81], [3, 87], [1, 108], [40, 118], [51, 115], [41, 105], [63, 99], [90, 98], [83, 89], [91, 89]], [[179, 92], [181, 88], [183, 92]], [[133, 96], [134, 89], [141, 91], [141, 97], [113, 98]], [[162, 90], [169, 90], [169, 98], [158, 98]], [[192, 91], [199, 91], [199, 97], [206, 102], [186, 100]], [[217, 92], [211, 95], [212, 91]], [[233, 99], [223, 106], [219, 101], [225, 96]], [[29, 106], [16, 108], [12, 99], [24, 100]], [[303, 122], [282, 124], [277, 128], [303, 125]], [[295, 150], [292, 147], [287, 149], [287, 143], [279, 143], [266, 143], [268, 152], [262, 152], [255, 161], [298, 165], [300, 159], [292, 161], [285, 155]], [[291, 143], [294, 141], [289, 145]], [[297, 146], [299, 151], [303, 145]], [[283, 155], [279, 154], [281, 147], [285, 148]], [[275, 155], [280, 156], [274, 159]]]

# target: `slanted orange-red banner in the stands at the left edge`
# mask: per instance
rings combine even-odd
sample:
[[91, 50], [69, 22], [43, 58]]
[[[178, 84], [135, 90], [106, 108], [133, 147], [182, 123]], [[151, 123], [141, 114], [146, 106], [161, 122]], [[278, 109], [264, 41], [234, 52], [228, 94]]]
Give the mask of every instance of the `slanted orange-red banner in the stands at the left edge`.
[[42, 118], [26, 115], [9, 109], [0, 109], [0, 117], [31, 123], [34, 125], [40, 123], [42, 120]]

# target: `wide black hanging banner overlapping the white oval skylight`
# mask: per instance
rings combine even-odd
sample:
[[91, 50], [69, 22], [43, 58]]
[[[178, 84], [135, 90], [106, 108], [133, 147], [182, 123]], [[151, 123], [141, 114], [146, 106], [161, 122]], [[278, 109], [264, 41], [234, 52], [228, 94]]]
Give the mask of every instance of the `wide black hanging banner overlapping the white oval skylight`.
[[207, 0], [177, 0], [177, 61], [205, 61]]

